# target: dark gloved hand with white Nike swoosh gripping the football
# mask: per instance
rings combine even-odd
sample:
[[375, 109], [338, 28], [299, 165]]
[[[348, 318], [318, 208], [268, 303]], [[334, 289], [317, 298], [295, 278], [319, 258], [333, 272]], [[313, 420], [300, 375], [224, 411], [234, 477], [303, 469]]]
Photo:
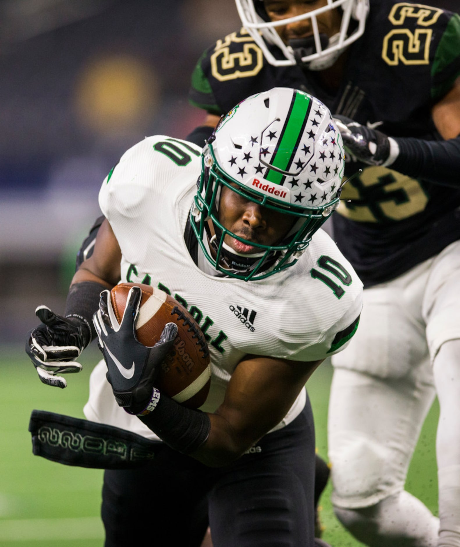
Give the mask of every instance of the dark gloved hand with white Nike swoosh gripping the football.
[[172, 350], [178, 334], [177, 325], [167, 323], [155, 346], [147, 347], [137, 340], [135, 321], [141, 294], [139, 287], [129, 290], [125, 312], [119, 323], [110, 301], [110, 292], [104, 290], [99, 310], [93, 316], [99, 349], [107, 363], [107, 380], [116, 402], [129, 414], [139, 414], [149, 404], [160, 364]]

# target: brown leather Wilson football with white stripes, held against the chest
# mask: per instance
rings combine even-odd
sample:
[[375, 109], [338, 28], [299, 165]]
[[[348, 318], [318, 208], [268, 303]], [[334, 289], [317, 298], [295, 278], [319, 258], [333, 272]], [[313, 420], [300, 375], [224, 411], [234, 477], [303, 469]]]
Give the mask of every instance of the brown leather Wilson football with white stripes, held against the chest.
[[125, 311], [129, 289], [142, 290], [135, 328], [138, 341], [154, 346], [166, 323], [176, 323], [178, 335], [174, 348], [161, 364], [155, 387], [188, 408], [196, 409], [208, 397], [210, 356], [198, 323], [172, 296], [142, 283], [119, 283], [110, 292], [112, 307], [119, 323]]

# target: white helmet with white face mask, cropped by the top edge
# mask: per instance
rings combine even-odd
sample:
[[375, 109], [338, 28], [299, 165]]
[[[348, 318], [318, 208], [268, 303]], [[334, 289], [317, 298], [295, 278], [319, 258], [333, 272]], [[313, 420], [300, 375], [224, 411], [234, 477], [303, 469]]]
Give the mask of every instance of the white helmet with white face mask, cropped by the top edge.
[[[280, 21], [270, 21], [262, 0], [235, 0], [235, 2], [243, 26], [260, 46], [271, 65], [285, 66], [302, 63], [310, 70], [322, 70], [332, 66], [339, 55], [363, 34], [369, 11], [369, 0], [326, 0], [326, 5], [321, 8]], [[325, 34], [320, 34], [316, 18], [333, 9], [341, 11], [340, 31], [332, 37], [327, 37]], [[305, 40], [304, 45], [297, 44], [294, 48], [286, 45], [276, 32], [276, 27], [304, 19], [311, 21], [312, 38]], [[283, 58], [276, 59], [267, 44], [278, 46]]]

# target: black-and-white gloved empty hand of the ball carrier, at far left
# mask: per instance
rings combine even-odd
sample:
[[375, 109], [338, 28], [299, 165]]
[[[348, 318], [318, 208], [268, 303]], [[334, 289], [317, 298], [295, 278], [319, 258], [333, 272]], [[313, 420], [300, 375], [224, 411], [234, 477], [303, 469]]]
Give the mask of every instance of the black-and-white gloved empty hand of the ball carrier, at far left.
[[47, 306], [38, 306], [35, 313], [42, 324], [31, 331], [26, 353], [43, 383], [64, 388], [67, 382], [59, 375], [82, 369], [74, 359], [91, 341], [89, 326], [78, 317], [57, 315]]

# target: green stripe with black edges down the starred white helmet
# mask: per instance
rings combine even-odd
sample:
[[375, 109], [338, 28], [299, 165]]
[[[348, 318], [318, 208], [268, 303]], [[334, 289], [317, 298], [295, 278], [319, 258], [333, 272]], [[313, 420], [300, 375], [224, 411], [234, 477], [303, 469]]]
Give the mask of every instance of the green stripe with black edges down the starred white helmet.
[[[291, 167], [297, 147], [302, 138], [305, 129], [306, 120], [310, 113], [311, 99], [304, 93], [293, 92], [289, 112], [287, 113], [284, 127], [278, 139], [278, 145], [269, 161], [270, 165], [278, 167], [282, 171], [288, 171]], [[281, 184], [285, 175], [268, 169], [266, 173], [267, 181], [274, 184]]]

